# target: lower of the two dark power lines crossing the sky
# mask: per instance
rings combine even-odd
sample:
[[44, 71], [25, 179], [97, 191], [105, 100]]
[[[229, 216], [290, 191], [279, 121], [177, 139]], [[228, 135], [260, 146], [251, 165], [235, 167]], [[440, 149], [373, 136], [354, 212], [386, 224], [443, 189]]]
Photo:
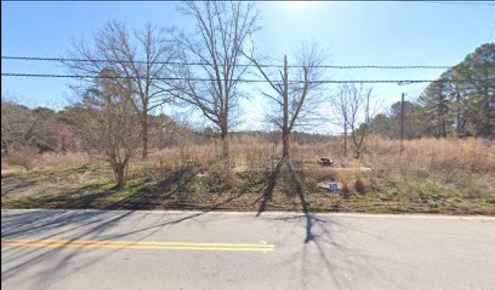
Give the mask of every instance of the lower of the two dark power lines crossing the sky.
[[[53, 78], [77, 78], [77, 79], [127, 79], [128, 77], [115, 77], [115, 76], [104, 76], [104, 75], [50, 75], [50, 74], [29, 74], [29, 73], [1, 73], [2, 77], [53, 77]], [[132, 77], [131, 77], [132, 78]], [[156, 80], [169, 80], [169, 81], [181, 81], [187, 80], [192, 82], [216, 82], [216, 79], [208, 79], [201, 77], [155, 77]], [[325, 79], [307, 82], [308, 84], [416, 84], [425, 82], [489, 82], [492, 80], [488, 79], [360, 79], [360, 80], [335, 80], [335, 79]], [[236, 79], [234, 82], [267, 82], [265, 79]], [[282, 81], [274, 81], [275, 83]], [[305, 83], [302, 80], [291, 80], [290, 83]]]

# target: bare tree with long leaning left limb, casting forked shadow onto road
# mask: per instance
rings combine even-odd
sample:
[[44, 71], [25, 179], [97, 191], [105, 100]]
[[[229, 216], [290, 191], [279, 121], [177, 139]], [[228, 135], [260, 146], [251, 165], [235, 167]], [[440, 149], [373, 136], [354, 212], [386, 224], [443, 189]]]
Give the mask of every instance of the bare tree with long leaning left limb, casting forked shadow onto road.
[[[248, 56], [246, 54], [246, 56]], [[263, 93], [274, 103], [270, 120], [282, 131], [282, 160], [290, 159], [290, 137], [296, 126], [311, 125], [317, 116], [321, 95], [319, 94], [319, 71], [315, 66], [321, 65], [325, 56], [317, 45], [301, 45], [298, 52], [298, 71], [294, 79], [289, 79], [289, 65], [284, 56], [283, 70], [280, 71], [282, 82], [277, 82], [266, 69], [254, 58], [248, 56], [275, 94]], [[275, 96], [274, 96], [275, 95]]]

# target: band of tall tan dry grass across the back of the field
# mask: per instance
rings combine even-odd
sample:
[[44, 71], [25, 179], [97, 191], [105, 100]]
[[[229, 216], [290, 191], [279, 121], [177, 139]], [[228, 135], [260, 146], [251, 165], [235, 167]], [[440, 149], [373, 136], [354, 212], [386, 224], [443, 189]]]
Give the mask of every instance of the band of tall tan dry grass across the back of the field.
[[[351, 142], [349, 142], [350, 144]], [[337, 167], [352, 167], [351, 158], [342, 155], [342, 137], [328, 139], [319, 144], [291, 144], [291, 155], [298, 162], [316, 162], [319, 157], [334, 158]], [[480, 138], [435, 139], [423, 138], [404, 141], [404, 152], [399, 155], [399, 141], [379, 136], [365, 139], [361, 165], [372, 168], [393, 169], [416, 167], [422, 169], [468, 169], [493, 171], [495, 169], [495, 142]], [[236, 137], [230, 144], [233, 165], [269, 167], [280, 156], [281, 146], [259, 137]], [[351, 152], [351, 148], [349, 148]], [[175, 161], [208, 162], [220, 154], [220, 146], [211, 144], [184, 144], [152, 151], [150, 158], [162, 163]], [[351, 155], [351, 153], [349, 154]], [[29, 162], [26, 162], [29, 161]], [[85, 153], [19, 153], [2, 158], [2, 170], [7, 167], [75, 167], [91, 162]], [[29, 164], [28, 164], [29, 163]], [[323, 168], [323, 167], [321, 167]], [[323, 170], [323, 169], [322, 169]], [[325, 171], [325, 172], [323, 172]], [[307, 174], [317, 179], [324, 176], [337, 178], [332, 169], [310, 170]], [[328, 171], [328, 172], [327, 172]], [[321, 176], [319, 176], [321, 175]]]

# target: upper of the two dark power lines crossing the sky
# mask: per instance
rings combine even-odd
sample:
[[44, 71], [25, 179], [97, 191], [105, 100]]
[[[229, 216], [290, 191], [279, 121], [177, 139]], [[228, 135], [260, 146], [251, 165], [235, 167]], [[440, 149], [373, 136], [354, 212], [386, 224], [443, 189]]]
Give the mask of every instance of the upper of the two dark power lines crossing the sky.
[[[170, 64], [179, 66], [211, 66], [212, 63], [207, 62], [181, 62], [181, 61], [119, 61], [112, 59], [76, 59], [76, 58], [64, 58], [64, 57], [38, 57], [38, 56], [1, 56], [1, 59], [8, 60], [18, 60], [18, 61], [59, 61], [59, 62], [93, 62], [93, 63], [151, 63], [151, 64]], [[237, 64], [239, 67], [254, 67], [254, 64]], [[283, 68], [282, 65], [277, 64], [261, 64], [262, 68]], [[302, 68], [303, 66], [287, 66], [288, 68]], [[452, 66], [308, 66], [309, 68], [335, 68], [335, 69], [448, 69]], [[464, 66], [461, 66], [464, 67]], [[475, 65], [475, 66], [465, 66], [466, 68], [486, 68], [495, 67], [493, 65]]]

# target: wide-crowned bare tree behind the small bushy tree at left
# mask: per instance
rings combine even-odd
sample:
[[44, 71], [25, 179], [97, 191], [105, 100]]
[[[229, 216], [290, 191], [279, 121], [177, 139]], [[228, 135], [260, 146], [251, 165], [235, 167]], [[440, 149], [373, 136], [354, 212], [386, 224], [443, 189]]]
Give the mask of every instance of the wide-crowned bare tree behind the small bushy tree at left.
[[[128, 91], [135, 112], [139, 114], [142, 131], [142, 157], [148, 156], [149, 115], [169, 102], [169, 88], [163, 77], [169, 76], [176, 57], [174, 45], [151, 24], [142, 31], [129, 31], [125, 24], [108, 22], [94, 36], [95, 45], [82, 41], [73, 45], [75, 59], [90, 61], [64, 62], [78, 75], [98, 75], [110, 69], [119, 75], [111, 79], [123, 91]], [[87, 79], [91, 81], [91, 79]]]

